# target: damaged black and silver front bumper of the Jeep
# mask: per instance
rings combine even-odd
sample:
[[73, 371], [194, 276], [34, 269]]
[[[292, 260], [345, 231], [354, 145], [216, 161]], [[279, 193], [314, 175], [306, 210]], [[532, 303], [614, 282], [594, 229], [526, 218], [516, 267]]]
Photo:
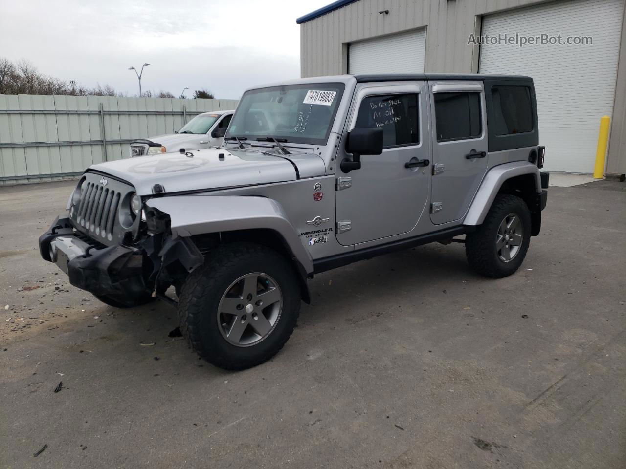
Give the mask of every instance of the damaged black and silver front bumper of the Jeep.
[[133, 298], [148, 289], [144, 256], [129, 246], [102, 246], [76, 236], [69, 218], [54, 219], [39, 237], [41, 257], [59, 266], [71, 285], [94, 295]]

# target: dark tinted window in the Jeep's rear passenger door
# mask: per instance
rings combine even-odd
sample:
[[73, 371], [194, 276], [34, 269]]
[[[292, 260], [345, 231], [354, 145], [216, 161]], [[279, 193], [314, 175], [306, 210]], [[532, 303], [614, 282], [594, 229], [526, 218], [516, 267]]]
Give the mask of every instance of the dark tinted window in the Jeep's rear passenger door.
[[438, 142], [481, 134], [480, 93], [435, 93], [434, 113]]

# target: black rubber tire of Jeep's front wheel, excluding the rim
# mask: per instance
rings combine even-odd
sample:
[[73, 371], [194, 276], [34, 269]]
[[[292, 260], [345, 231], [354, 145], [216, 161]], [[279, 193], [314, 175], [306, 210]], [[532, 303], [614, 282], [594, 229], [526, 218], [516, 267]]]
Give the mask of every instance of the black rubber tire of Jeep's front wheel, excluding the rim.
[[[282, 310], [274, 329], [250, 346], [235, 346], [220, 332], [217, 311], [228, 286], [242, 275], [262, 272], [272, 276], [282, 292]], [[252, 243], [218, 246], [183, 285], [178, 303], [180, 331], [204, 360], [225, 370], [260, 365], [285, 345], [300, 312], [300, 286], [294, 267], [274, 250]]]

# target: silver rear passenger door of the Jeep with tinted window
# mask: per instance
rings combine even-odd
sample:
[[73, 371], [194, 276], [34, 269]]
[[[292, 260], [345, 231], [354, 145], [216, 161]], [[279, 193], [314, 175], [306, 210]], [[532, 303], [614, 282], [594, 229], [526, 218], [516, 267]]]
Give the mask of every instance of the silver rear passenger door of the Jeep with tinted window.
[[431, 81], [433, 184], [431, 221], [463, 218], [487, 169], [482, 81]]

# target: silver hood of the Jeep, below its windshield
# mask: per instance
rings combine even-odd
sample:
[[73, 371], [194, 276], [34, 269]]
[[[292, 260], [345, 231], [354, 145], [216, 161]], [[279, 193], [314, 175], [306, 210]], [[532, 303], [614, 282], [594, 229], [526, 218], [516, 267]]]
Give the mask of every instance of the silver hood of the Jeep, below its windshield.
[[[298, 178], [295, 163], [280, 156], [223, 148], [188, 153], [193, 154], [193, 158], [180, 153], [163, 153], [93, 164], [89, 169], [128, 181], [140, 196], [151, 195], [154, 184], [161, 184], [165, 193], [173, 193], [279, 183]], [[221, 159], [220, 154], [223, 154]], [[324, 161], [318, 156], [300, 154], [298, 157], [306, 173], [300, 177], [324, 174]]]

